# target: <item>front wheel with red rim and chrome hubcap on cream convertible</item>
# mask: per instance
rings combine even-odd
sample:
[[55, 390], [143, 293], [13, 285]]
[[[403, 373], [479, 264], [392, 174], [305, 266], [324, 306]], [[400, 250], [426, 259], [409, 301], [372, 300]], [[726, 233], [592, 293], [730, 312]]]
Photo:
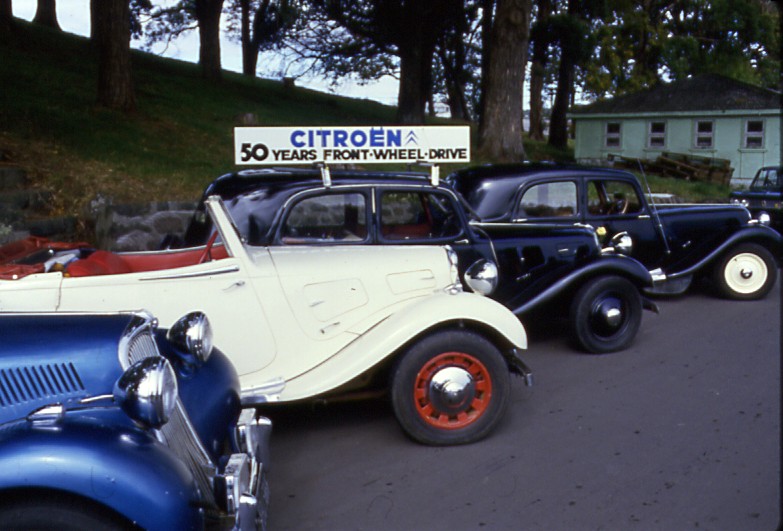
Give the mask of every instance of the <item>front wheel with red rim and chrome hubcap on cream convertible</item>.
[[[486, 437], [503, 417], [510, 394], [503, 355], [482, 336], [436, 332], [416, 342], [391, 374], [391, 400], [402, 429], [430, 445], [467, 444]], [[450, 385], [450, 396], [435, 386]]]

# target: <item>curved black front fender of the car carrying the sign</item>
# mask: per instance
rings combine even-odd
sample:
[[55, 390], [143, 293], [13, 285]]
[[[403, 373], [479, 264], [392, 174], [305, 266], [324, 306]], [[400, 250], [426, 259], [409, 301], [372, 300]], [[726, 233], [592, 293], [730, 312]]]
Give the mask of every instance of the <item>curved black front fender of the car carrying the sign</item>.
[[600, 275], [617, 275], [630, 280], [637, 288], [653, 285], [652, 276], [641, 262], [622, 254], [603, 254], [595, 260], [583, 264], [578, 269], [559, 277], [546, 289], [541, 290], [532, 299], [512, 307], [516, 315], [523, 315], [554, 301], [563, 294], [576, 289], [587, 280]]

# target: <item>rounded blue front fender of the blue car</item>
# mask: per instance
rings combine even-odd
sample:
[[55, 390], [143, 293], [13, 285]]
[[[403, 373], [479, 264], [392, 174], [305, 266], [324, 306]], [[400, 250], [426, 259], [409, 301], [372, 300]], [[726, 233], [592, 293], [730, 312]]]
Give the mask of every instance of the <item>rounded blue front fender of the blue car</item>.
[[0, 430], [0, 496], [56, 490], [106, 506], [145, 529], [202, 527], [187, 466], [151, 434], [105, 420], [22, 421]]

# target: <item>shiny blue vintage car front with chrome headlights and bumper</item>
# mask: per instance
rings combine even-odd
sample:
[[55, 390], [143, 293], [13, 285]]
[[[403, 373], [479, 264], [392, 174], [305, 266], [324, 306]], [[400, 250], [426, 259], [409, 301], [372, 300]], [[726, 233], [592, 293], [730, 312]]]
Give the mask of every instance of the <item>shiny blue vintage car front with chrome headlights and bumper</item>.
[[0, 315], [4, 529], [265, 529], [271, 423], [194, 312]]

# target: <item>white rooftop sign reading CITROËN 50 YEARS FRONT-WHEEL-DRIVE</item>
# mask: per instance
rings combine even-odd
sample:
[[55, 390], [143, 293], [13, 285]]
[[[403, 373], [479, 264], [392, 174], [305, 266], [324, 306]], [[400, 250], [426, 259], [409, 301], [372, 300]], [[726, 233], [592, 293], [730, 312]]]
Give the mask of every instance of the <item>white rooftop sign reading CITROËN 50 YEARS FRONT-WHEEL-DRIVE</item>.
[[236, 164], [470, 162], [468, 126], [237, 127]]

